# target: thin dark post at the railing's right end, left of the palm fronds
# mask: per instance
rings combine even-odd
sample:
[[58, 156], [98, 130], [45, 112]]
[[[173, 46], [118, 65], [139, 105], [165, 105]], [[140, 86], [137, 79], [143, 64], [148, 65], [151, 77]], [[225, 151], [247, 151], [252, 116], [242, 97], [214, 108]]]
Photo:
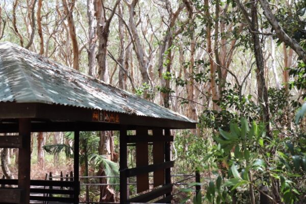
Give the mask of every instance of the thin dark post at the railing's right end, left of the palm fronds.
[[79, 203], [80, 183], [79, 183], [79, 149], [80, 149], [80, 131], [74, 131], [74, 202]]

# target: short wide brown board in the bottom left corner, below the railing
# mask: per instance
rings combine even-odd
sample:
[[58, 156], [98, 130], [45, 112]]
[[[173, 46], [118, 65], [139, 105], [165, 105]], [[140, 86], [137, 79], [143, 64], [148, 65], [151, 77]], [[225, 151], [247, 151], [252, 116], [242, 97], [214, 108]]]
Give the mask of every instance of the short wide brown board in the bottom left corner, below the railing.
[[0, 203], [20, 203], [22, 189], [0, 188]]

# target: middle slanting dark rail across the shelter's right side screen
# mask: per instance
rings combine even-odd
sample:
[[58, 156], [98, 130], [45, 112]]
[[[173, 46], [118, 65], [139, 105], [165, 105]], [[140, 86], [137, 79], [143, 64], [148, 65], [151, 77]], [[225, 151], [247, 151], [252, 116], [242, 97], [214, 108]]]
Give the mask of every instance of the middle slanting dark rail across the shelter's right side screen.
[[142, 173], [148, 173], [152, 171], [156, 171], [159, 169], [167, 169], [171, 168], [174, 165], [174, 161], [169, 161], [169, 162], [164, 162], [161, 164], [150, 164], [147, 166], [141, 166], [141, 167], [136, 167], [136, 168], [131, 168], [131, 169], [125, 169], [127, 173], [127, 177], [132, 177], [136, 176]]

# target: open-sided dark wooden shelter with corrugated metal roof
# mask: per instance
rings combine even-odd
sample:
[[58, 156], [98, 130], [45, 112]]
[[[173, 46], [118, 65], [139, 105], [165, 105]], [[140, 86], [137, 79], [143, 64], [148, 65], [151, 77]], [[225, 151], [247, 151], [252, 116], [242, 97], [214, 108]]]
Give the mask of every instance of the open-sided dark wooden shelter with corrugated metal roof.
[[[120, 131], [120, 203], [170, 202], [170, 130], [195, 126], [195, 121], [129, 92], [10, 42], [0, 43], [0, 133], [19, 133], [0, 137], [0, 148], [19, 149], [18, 179], [0, 180], [1, 203], [79, 203], [80, 131]], [[129, 130], [136, 131], [136, 135], [128, 135]], [[73, 181], [31, 180], [31, 132], [68, 131], [74, 132]], [[135, 168], [127, 165], [130, 143], [136, 146]], [[148, 144], [152, 145], [153, 164], [148, 163]], [[154, 172], [151, 190], [149, 172]], [[137, 178], [137, 192], [144, 192], [133, 198], [129, 198], [127, 188], [131, 176]], [[73, 190], [33, 186], [65, 186]], [[31, 196], [33, 192], [70, 196]]]

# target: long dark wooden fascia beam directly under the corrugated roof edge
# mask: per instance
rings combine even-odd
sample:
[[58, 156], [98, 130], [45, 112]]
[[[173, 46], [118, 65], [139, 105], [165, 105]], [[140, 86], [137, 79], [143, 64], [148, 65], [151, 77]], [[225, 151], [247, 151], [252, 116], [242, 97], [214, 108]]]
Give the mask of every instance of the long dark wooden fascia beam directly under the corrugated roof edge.
[[[92, 109], [42, 103], [0, 103], [1, 119], [39, 118], [93, 122]], [[141, 125], [169, 129], [195, 129], [196, 123], [172, 119], [119, 114], [122, 125]], [[101, 122], [102, 123], [102, 122]], [[108, 123], [112, 124], [112, 123]], [[152, 125], [154, 124], [154, 125]]]

